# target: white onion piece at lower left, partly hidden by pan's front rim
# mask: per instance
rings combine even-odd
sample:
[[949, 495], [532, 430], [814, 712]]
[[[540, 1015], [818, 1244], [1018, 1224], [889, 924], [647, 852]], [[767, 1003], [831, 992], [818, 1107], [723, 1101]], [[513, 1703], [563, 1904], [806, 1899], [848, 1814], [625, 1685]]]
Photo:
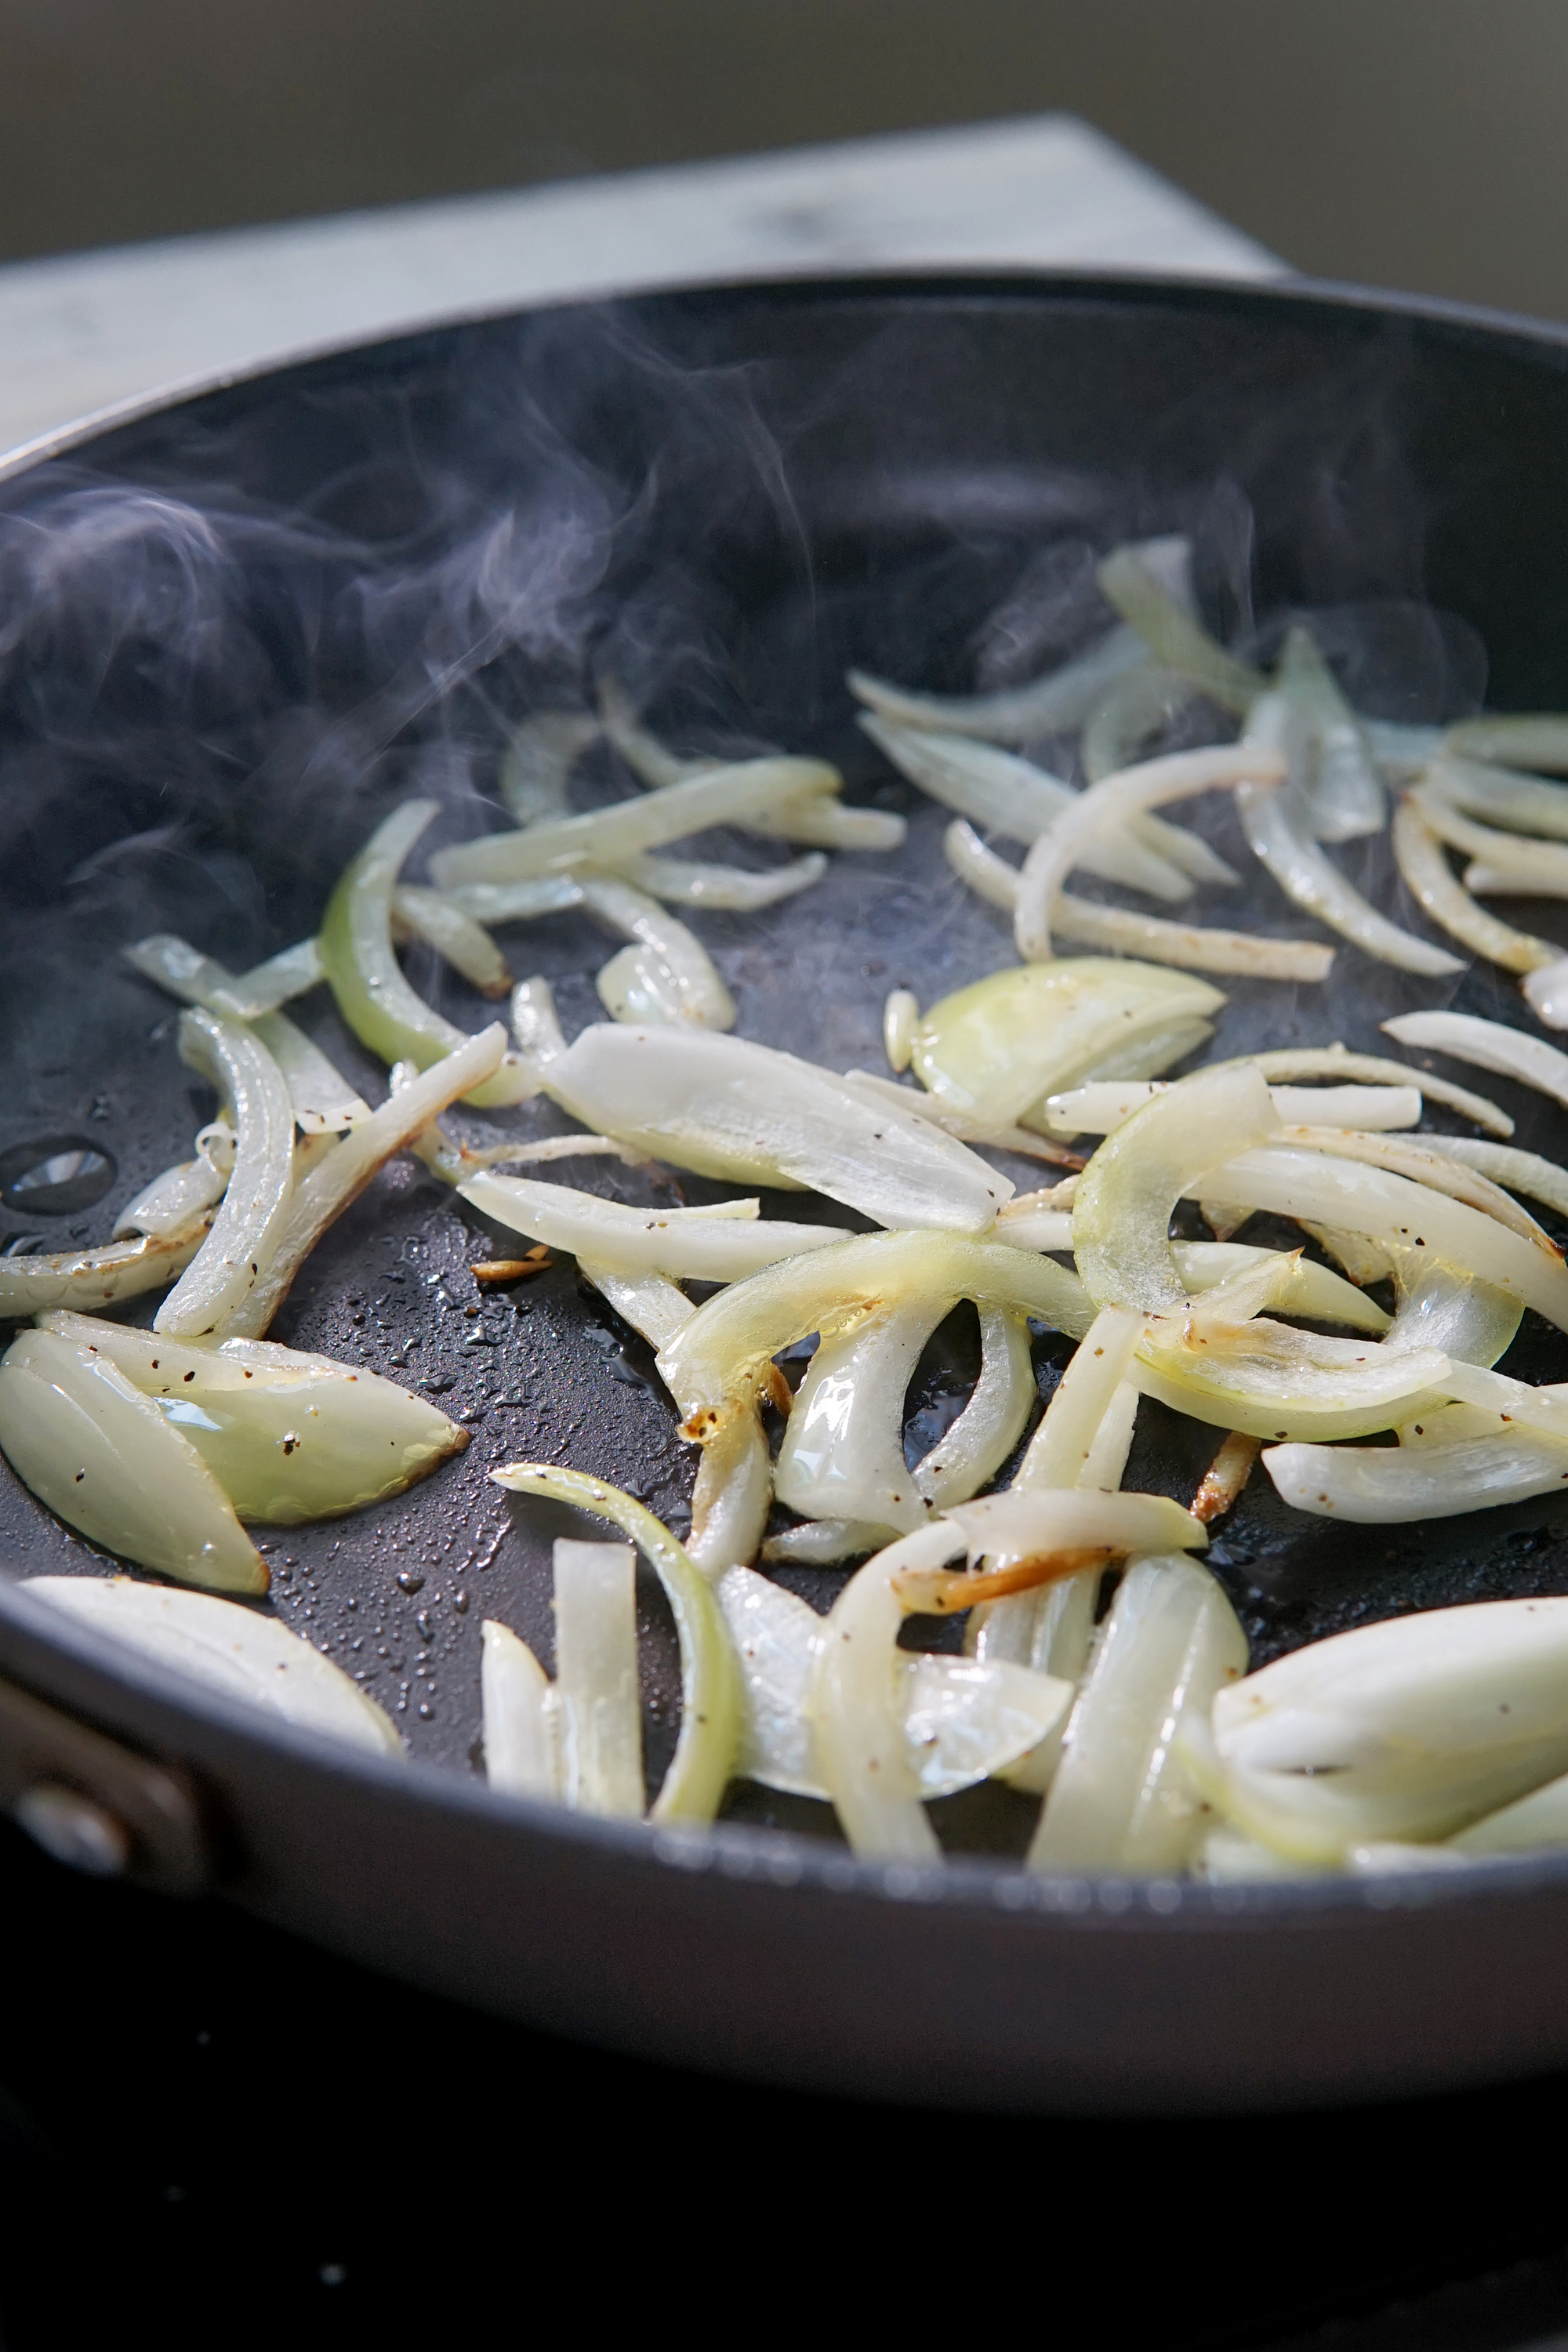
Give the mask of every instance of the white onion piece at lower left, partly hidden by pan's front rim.
[[209, 1592], [172, 1592], [129, 1576], [28, 1576], [21, 1588], [110, 1642], [200, 1682], [214, 1698], [378, 1757], [402, 1757], [393, 1719], [357, 1682], [277, 1618]]

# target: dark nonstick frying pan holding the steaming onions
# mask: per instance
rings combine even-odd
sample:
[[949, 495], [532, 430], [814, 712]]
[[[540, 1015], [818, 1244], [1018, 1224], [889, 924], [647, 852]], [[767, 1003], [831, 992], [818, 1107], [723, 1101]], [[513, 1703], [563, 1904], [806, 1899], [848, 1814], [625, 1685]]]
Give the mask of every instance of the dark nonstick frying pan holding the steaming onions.
[[[402, 793], [442, 800], [433, 842], [501, 821], [508, 722], [592, 677], [616, 675], [682, 746], [820, 750], [849, 797], [907, 809], [898, 856], [837, 856], [764, 917], [701, 920], [743, 1035], [877, 1068], [891, 985], [931, 1002], [1011, 943], [945, 875], [940, 811], [856, 731], [846, 663], [959, 689], [976, 661], [1027, 670], [1081, 621], [1093, 550], [1182, 529], [1218, 626], [1267, 652], [1291, 609], [1326, 614], [1366, 708], [1563, 706], [1563, 449], [1559, 332], [1321, 289], [1065, 278], [484, 318], [61, 437], [0, 487], [0, 1247], [106, 1240], [209, 1115], [172, 1009], [118, 955], [129, 938], [179, 929], [240, 967], [306, 934]], [[628, 788], [583, 774], [588, 802]], [[1225, 809], [1208, 823], [1225, 847]], [[1380, 887], [1382, 844], [1363, 856]], [[1213, 920], [1298, 929], [1262, 884]], [[569, 1030], [595, 1018], [609, 950], [583, 922], [510, 934], [508, 953], [552, 978]], [[451, 976], [416, 962], [414, 978], [480, 1025]], [[1387, 1014], [1443, 995], [1340, 950], [1324, 990], [1237, 983], [1211, 1051], [1371, 1047]], [[1516, 1004], [1486, 974], [1455, 1002]], [[383, 1084], [331, 1009], [306, 1018]], [[1552, 1105], [1490, 1091], [1521, 1143], [1563, 1150]], [[717, 1192], [562, 1174], [625, 1200]], [[811, 1204], [764, 1200], [778, 1211]], [[172, 1893], [216, 1886], [567, 2034], [893, 2098], [1258, 2107], [1568, 2060], [1568, 1856], [1458, 1884], [1034, 1879], [1030, 1806], [1001, 1788], [933, 1809], [954, 1851], [929, 1872], [856, 1863], [823, 1806], [750, 1785], [701, 1835], [489, 1795], [480, 1623], [550, 1658], [550, 1538], [569, 1519], [487, 1470], [571, 1461], [677, 1526], [693, 1472], [646, 1350], [571, 1263], [480, 1296], [468, 1268], [494, 1240], [397, 1164], [275, 1324], [423, 1383], [473, 1432], [386, 1508], [263, 1534], [273, 1604], [395, 1712], [409, 1762], [254, 1722], [0, 1578], [2, 1795], [38, 1818], [28, 1790], [73, 1790], [61, 1851]], [[973, 1348], [959, 1312], [926, 1352], [910, 1392], [926, 1439]], [[1561, 1378], [1561, 1357], [1528, 1324], [1509, 1367]], [[1037, 1343], [1041, 1395], [1063, 1359]], [[1187, 1498], [1211, 1444], [1145, 1404], [1128, 1479]], [[16, 1576], [103, 1571], [9, 1472], [0, 1543]], [[1255, 1663], [1418, 1606], [1568, 1590], [1547, 1501], [1328, 1529], [1258, 1477], [1208, 1557]], [[837, 1590], [790, 1581], [818, 1604]], [[679, 1691], [656, 1588], [639, 1621], [656, 1780]]]

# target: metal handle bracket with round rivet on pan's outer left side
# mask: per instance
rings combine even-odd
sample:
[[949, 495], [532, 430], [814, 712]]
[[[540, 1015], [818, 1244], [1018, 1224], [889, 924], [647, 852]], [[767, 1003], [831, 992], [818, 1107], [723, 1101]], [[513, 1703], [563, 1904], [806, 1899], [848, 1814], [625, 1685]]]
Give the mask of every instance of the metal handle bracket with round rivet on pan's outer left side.
[[212, 1877], [186, 1773], [150, 1764], [12, 1682], [0, 1682], [0, 1809], [92, 1877], [165, 1893], [197, 1893]]

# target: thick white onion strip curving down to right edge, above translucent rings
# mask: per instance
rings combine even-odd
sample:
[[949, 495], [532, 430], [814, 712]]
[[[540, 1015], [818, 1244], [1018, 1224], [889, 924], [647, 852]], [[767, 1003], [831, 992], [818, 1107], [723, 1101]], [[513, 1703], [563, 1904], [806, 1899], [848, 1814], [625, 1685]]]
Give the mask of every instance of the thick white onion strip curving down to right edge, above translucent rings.
[[[1128, 1134], [1131, 1124], [1128, 1120], [1119, 1134]], [[1345, 1232], [1429, 1247], [1453, 1265], [1465, 1265], [1483, 1282], [1512, 1291], [1519, 1303], [1535, 1308], [1559, 1329], [1568, 1329], [1568, 1270], [1552, 1244], [1542, 1247], [1512, 1232], [1495, 1216], [1392, 1169], [1272, 1143], [1227, 1160], [1204, 1181], [1204, 1192], [1248, 1209], [1267, 1209], [1272, 1216], [1316, 1218]], [[1074, 1225], [1081, 1202], [1084, 1185], [1072, 1211]]]

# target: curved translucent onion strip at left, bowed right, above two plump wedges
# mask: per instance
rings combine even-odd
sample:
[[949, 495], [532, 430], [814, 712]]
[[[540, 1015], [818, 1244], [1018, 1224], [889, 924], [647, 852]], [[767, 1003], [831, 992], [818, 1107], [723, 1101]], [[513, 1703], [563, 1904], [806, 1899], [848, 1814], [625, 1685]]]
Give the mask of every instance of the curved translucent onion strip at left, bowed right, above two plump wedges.
[[181, 1014], [179, 1047], [212, 1077], [235, 1127], [235, 1167], [212, 1232], [153, 1319], [155, 1331], [190, 1338], [230, 1322], [273, 1263], [294, 1200], [294, 1105], [242, 1023]]

